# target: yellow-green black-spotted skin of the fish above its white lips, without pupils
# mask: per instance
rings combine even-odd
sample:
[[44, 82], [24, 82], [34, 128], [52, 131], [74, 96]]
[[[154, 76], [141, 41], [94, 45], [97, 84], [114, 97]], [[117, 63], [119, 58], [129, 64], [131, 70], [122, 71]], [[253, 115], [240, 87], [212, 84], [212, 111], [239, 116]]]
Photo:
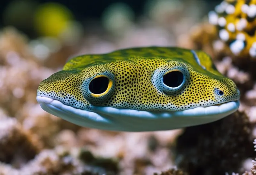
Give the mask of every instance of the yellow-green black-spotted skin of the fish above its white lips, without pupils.
[[[100, 55], [82, 55], [69, 60], [63, 70], [42, 81], [37, 95], [65, 105], [92, 110], [93, 106], [143, 111], [180, 111], [238, 100], [235, 83], [215, 68], [202, 51], [174, 47], [145, 47]], [[164, 90], [166, 72], [183, 73], [180, 88]], [[92, 94], [89, 84], [106, 76], [112, 85], [102, 94]], [[169, 80], [172, 81], [172, 80]], [[219, 94], [219, 92], [224, 92]]]

